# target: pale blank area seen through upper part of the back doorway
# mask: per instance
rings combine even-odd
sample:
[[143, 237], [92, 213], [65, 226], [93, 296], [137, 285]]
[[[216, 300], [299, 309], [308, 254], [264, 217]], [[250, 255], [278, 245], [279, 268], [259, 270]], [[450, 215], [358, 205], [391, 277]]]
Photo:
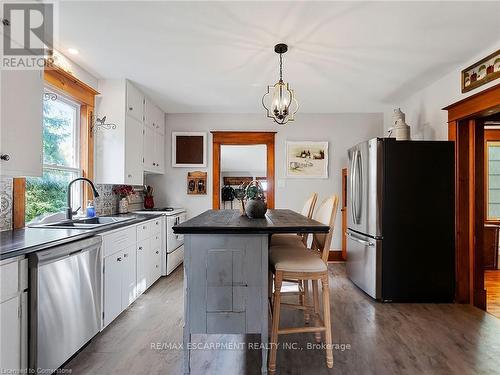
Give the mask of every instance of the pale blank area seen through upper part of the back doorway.
[[265, 174], [267, 169], [266, 157], [266, 145], [222, 145], [220, 169], [221, 172], [263, 172]]

